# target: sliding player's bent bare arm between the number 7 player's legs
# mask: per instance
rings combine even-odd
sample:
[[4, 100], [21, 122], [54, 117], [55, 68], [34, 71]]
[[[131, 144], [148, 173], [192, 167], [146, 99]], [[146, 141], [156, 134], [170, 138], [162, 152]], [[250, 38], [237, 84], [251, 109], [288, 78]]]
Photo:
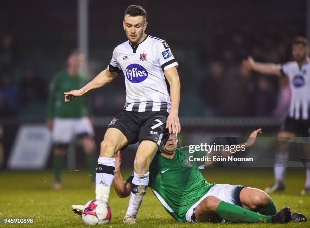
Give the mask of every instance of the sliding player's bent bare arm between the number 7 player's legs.
[[117, 193], [118, 197], [127, 197], [130, 195], [130, 188], [131, 188], [131, 183], [128, 183], [127, 181], [123, 181], [123, 178], [121, 176], [121, 152], [118, 151], [115, 156], [115, 173], [114, 173], [114, 179], [113, 179], [113, 184], [114, 184], [114, 189], [115, 192]]

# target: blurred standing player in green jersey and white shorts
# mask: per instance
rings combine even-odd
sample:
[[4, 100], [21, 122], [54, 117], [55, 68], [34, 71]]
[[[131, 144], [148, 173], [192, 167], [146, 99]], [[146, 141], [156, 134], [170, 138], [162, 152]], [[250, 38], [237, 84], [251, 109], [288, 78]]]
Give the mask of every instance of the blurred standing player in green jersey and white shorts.
[[67, 69], [55, 74], [49, 86], [46, 124], [52, 131], [54, 144], [55, 182], [53, 188], [55, 189], [61, 187], [60, 175], [64, 163], [64, 154], [75, 136], [78, 136], [79, 142], [82, 143], [92, 181], [95, 179], [94, 130], [88, 117], [90, 115], [90, 101], [87, 97], [80, 97], [69, 104], [65, 104], [63, 99], [65, 91], [77, 89], [87, 83], [87, 77], [79, 73], [83, 59], [84, 56], [79, 50], [72, 51], [67, 59]]

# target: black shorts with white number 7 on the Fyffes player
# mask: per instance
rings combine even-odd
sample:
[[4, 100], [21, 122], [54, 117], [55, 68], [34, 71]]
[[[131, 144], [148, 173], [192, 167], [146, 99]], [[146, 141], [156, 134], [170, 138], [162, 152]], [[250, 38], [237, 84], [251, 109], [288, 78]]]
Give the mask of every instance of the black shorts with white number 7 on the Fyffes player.
[[[151, 140], [162, 149], [169, 133], [166, 129], [168, 112], [130, 112], [122, 110], [110, 122], [109, 128], [119, 129], [127, 138], [128, 144]], [[124, 148], [123, 148], [124, 149]]]

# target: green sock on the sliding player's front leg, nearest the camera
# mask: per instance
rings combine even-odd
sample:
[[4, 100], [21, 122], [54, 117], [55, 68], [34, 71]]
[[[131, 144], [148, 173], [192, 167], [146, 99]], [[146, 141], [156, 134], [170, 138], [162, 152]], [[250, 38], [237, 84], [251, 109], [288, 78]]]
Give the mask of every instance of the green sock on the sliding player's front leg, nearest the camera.
[[266, 223], [271, 221], [272, 216], [258, 214], [244, 209], [235, 204], [222, 201], [216, 208], [216, 213], [221, 218], [230, 222]]

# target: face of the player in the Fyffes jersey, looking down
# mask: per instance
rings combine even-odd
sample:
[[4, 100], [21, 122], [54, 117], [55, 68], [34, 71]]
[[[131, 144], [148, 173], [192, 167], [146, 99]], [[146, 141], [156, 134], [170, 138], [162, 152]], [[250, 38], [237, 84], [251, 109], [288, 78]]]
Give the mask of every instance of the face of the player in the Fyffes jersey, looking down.
[[137, 44], [142, 41], [141, 38], [145, 32], [147, 22], [143, 16], [131, 17], [126, 14], [123, 21], [123, 28], [131, 44]]

